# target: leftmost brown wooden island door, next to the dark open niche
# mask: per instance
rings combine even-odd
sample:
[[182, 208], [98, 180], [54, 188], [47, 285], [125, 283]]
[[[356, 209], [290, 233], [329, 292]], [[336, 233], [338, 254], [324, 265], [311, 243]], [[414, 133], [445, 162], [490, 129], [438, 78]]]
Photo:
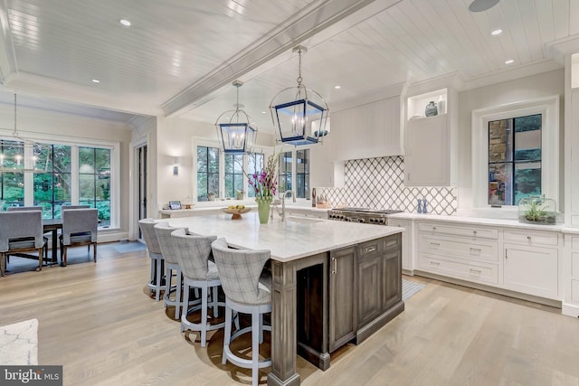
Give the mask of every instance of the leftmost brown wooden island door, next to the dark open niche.
[[356, 337], [356, 247], [329, 253], [329, 352]]

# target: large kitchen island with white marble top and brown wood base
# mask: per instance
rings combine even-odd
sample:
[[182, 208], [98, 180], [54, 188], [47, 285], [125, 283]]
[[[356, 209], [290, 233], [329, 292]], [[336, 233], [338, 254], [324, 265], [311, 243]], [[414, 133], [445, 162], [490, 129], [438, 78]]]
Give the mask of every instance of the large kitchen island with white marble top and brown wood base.
[[401, 228], [274, 219], [256, 212], [166, 219], [224, 237], [232, 248], [271, 250], [270, 385], [298, 385], [299, 353], [319, 368], [340, 345], [362, 342], [403, 311]]

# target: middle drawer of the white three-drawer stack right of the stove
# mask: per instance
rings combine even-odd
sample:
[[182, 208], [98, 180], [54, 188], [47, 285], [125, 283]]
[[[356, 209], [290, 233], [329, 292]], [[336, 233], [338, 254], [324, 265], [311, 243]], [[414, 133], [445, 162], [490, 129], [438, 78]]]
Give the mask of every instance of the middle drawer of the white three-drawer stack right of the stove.
[[460, 259], [498, 261], [498, 242], [484, 240], [461, 240], [431, 233], [418, 234], [418, 249], [437, 255], [455, 256]]

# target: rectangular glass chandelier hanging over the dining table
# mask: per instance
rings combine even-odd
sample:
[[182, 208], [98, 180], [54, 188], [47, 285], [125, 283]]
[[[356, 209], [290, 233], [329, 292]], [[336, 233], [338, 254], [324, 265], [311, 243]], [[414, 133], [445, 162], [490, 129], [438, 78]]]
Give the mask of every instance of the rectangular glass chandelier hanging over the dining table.
[[48, 146], [20, 137], [17, 128], [16, 94], [14, 94], [14, 130], [12, 137], [0, 138], [0, 172], [45, 173], [48, 169]]

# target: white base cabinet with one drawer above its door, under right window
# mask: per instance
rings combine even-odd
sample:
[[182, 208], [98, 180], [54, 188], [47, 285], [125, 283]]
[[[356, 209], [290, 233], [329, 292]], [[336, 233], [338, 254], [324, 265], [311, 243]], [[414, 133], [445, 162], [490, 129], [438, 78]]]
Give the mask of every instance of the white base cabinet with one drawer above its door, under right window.
[[505, 287], [528, 295], [559, 299], [558, 239], [555, 232], [504, 231]]

